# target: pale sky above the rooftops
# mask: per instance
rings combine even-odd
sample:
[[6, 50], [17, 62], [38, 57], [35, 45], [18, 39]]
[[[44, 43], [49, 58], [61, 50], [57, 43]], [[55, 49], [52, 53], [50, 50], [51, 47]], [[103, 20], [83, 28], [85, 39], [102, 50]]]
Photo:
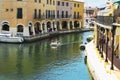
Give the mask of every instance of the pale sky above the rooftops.
[[100, 7], [104, 6], [108, 0], [75, 0], [75, 1], [82, 1], [85, 2], [85, 7]]

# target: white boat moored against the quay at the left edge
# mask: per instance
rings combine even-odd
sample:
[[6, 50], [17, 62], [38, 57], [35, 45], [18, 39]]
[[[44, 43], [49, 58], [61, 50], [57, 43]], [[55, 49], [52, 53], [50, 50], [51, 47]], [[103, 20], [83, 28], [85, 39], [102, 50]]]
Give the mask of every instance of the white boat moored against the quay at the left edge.
[[0, 34], [0, 42], [3, 43], [22, 43], [23, 41], [22, 37], [13, 37], [11, 34]]

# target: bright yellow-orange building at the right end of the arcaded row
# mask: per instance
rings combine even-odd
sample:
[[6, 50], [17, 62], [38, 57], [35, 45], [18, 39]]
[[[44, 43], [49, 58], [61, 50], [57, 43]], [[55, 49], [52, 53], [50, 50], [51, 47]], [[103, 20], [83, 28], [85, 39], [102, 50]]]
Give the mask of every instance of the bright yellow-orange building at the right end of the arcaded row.
[[84, 3], [72, 1], [72, 17], [74, 19], [74, 27], [84, 27]]

